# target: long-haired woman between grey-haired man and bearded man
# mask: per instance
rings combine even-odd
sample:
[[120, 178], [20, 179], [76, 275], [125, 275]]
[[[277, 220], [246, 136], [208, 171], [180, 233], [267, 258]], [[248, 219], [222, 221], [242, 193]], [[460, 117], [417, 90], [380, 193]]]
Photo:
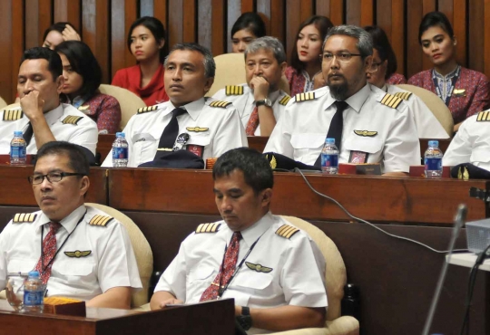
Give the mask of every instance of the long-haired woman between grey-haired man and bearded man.
[[314, 88], [313, 81], [315, 75], [319, 74], [321, 77], [321, 46], [331, 27], [333, 24], [330, 20], [321, 15], [311, 16], [299, 25], [297, 40], [291, 53], [291, 66], [285, 72], [291, 96], [324, 85], [321, 82]]

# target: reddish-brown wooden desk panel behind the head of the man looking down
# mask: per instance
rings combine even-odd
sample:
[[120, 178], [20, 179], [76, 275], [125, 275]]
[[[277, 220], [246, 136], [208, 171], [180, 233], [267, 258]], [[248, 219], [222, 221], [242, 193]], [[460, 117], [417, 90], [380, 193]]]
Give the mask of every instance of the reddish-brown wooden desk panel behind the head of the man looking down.
[[[315, 195], [298, 174], [276, 173], [271, 209], [306, 219], [350, 221], [337, 205]], [[307, 175], [319, 192], [334, 197], [352, 215], [376, 222], [452, 225], [456, 207], [468, 220], [487, 216], [488, 206], [468, 196], [490, 181]], [[211, 171], [153, 168], [109, 170], [109, 206], [122, 210], [218, 215]]]

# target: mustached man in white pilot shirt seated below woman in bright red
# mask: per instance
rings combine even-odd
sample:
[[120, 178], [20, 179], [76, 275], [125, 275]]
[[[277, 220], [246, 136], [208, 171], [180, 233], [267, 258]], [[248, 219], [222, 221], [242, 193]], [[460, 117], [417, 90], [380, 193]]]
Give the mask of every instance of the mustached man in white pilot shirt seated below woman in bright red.
[[[238, 111], [231, 102], [204, 99], [216, 70], [208, 49], [196, 43], [176, 44], [163, 66], [170, 101], [142, 108], [129, 120], [123, 130], [129, 145], [128, 167], [158, 160], [172, 151], [183, 133], [188, 139], [182, 148], [203, 160], [220, 157], [231, 148], [248, 147]], [[109, 155], [103, 167], [112, 166]]]

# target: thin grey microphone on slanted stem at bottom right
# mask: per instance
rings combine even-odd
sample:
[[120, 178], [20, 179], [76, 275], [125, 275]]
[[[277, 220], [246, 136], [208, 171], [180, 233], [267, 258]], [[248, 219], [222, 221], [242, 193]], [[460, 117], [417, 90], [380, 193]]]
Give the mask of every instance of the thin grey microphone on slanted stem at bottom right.
[[449, 242], [449, 252], [447, 253], [447, 260], [445, 259], [441, 273], [439, 274], [436, 292], [434, 292], [434, 297], [432, 298], [432, 302], [430, 304], [430, 309], [427, 315], [424, 330], [422, 330], [422, 335], [428, 335], [430, 326], [432, 325], [432, 320], [434, 319], [434, 314], [436, 313], [437, 302], [439, 301], [439, 295], [441, 294], [442, 285], [444, 283], [444, 280], [446, 279], [447, 266], [449, 265], [449, 261], [451, 260], [451, 254], [453, 254], [453, 250], [455, 249], [457, 235], [459, 235], [459, 231], [461, 230], [463, 225], [465, 225], [467, 212], [468, 208], [466, 207], [466, 205], [460, 204], [459, 206], [457, 206], [455, 226], [453, 227], [451, 241]]

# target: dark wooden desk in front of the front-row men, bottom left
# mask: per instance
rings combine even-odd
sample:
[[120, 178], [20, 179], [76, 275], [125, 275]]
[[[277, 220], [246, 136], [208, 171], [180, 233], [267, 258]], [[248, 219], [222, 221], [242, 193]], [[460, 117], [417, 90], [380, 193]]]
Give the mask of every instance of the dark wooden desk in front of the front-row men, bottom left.
[[[87, 308], [87, 317], [15, 312], [0, 300], [2, 334], [36, 335], [228, 335], [234, 331], [232, 299], [164, 311], [124, 311]], [[217, 317], [219, 316], [219, 317]]]

